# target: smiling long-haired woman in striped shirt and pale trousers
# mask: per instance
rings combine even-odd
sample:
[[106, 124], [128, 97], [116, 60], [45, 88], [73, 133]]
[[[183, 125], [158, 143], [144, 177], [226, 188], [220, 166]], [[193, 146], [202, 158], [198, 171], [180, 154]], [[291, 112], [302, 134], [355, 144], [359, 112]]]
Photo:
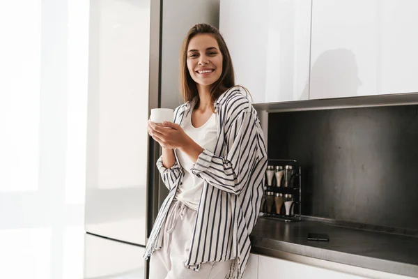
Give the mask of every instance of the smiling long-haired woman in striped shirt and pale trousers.
[[242, 278], [263, 195], [267, 153], [247, 91], [234, 86], [219, 31], [196, 24], [180, 61], [185, 100], [173, 123], [148, 122], [169, 195], [144, 257], [150, 278]]

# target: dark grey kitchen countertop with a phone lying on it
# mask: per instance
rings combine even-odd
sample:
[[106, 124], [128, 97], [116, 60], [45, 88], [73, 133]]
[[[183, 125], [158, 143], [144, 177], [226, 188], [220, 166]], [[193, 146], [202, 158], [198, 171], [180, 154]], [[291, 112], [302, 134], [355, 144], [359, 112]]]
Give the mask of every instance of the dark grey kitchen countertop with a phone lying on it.
[[[329, 242], [307, 241], [309, 232], [325, 233]], [[251, 232], [251, 252], [274, 251], [324, 259], [366, 269], [418, 277], [418, 238], [302, 220], [284, 223], [258, 218]]]

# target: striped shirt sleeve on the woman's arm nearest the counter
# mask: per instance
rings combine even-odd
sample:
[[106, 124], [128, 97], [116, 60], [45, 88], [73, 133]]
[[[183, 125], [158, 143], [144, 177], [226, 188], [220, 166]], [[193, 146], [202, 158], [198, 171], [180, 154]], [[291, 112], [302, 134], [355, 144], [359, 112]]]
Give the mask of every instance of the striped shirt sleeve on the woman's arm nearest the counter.
[[216, 188], [240, 194], [262, 158], [260, 131], [256, 116], [251, 112], [242, 112], [228, 130], [227, 155], [215, 156], [208, 149], [203, 149], [191, 169], [192, 173]]

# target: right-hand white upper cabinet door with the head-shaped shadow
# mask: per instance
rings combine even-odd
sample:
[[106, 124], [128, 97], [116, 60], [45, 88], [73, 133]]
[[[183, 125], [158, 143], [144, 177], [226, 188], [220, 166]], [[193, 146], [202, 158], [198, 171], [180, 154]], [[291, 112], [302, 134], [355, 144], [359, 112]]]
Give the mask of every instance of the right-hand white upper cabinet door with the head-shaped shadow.
[[310, 99], [418, 91], [418, 1], [314, 0]]

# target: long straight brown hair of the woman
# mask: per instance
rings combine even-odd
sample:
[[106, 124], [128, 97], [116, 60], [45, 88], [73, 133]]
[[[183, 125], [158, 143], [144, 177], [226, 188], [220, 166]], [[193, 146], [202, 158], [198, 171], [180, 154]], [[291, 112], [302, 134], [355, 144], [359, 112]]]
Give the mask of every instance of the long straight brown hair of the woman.
[[194, 25], [194, 27], [189, 30], [185, 40], [183, 41], [183, 47], [181, 48], [180, 53], [180, 91], [185, 102], [191, 101], [195, 96], [197, 96], [198, 99], [196, 105], [199, 105], [199, 93], [197, 91], [196, 82], [194, 82], [190, 76], [189, 70], [187, 69], [187, 47], [189, 46], [190, 40], [198, 34], [210, 34], [213, 36], [213, 38], [217, 40], [219, 51], [222, 53], [223, 57], [222, 74], [210, 87], [210, 99], [212, 100], [212, 103], [215, 103], [215, 100], [222, 93], [224, 93], [224, 91], [234, 86], [235, 79], [233, 75], [231, 55], [229, 54], [225, 40], [219, 30], [212, 27], [210, 24], [200, 23]]

